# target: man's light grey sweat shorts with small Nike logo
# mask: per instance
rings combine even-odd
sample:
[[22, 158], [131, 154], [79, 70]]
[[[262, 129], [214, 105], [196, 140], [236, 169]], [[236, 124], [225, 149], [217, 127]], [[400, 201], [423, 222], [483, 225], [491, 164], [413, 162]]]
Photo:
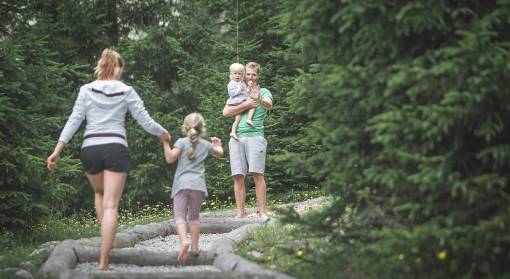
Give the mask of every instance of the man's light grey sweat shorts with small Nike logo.
[[230, 152], [230, 168], [232, 176], [246, 176], [249, 166], [249, 173], [264, 175], [266, 169], [267, 141], [263, 136], [239, 137], [228, 142]]

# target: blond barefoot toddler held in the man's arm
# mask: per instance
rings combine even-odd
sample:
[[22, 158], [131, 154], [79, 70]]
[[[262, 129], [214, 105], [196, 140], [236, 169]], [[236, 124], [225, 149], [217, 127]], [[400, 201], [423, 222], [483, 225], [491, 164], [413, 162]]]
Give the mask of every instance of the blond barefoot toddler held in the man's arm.
[[[248, 86], [246, 82], [243, 80], [244, 78], [244, 66], [239, 63], [234, 63], [230, 65], [230, 82], [228, 82], [227, 90], [228, 90], [228, 100], [226, 101], [227, 105], [238, 105], [244, 102], [249, 98], [248, 94]], [[246, 123], [248, 123], [251, 127], [255, 128], [253, 122], [251, 121], [253, 118], [253, 114], [255, 113], [255, 108], [250, 108], [248, 110], [248, 119]], [[230, 136], [232, 136], [237, 141], [237, 127], [239, 126], [239, 122], [241, 121], [241, 116], [243, 114], [236, 115], [236, 120], [234, 124], [232, 124], [232, 132]]]

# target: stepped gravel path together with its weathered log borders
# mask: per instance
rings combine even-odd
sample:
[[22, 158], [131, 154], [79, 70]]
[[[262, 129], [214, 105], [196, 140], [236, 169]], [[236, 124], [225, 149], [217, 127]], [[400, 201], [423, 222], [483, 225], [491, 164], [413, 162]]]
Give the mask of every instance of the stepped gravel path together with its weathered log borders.
[[[302, 213], [320, 207], [327, 200], [328, 198], [317, 198], [307, 202], [277, 206], [276, 208], [293, 206], [298, 213]], [[176, 263], [176, 255], [179, 254], [181, 249], [181, 241], [174, 234], [175, 224], [172, 224], [172, 220], [168, 220], [148, 225], [137, 225], [119, 232], [116, 235], [116, 245], [119, 244], [119, 248], [126, 248], [115, 249], [115, 255], [110, 255], [110, 257], [116, 257], [116, 260], [110, 263], [113, 266], [112, 270], [98, 270], [98, 263], [91, 261], [97, 257], [91, 255], [98, 253], [96, 249], [98, 249], [100, 239], [95, 237], [64, 240], [58, 243], [48, 260], [42, 265], [40, 273], [42, 275], [53, 274], [60, 279], [78, 277], [90, 279], [91, 277], [87, 274], [92, 277], [104, 278], [119, 278], [118, 276], [126, 274], [130, 275], [130, 278], [136, 279], [152, 278], [152, 276], [170, 278], [170, 275], [174, 278], [176, 275], [189, 276], [189, 272], [197, 272], [195, 274], [200, 278], [220, 278], [223, 275], [228, 278], [260, 278], [260, 276], [269, 275], [278, 279], [295, 279], [287, 274], [264, 270], [258, 264], [234, 254], [234, 246], [245, 239], [250, 230], [266, 222], [272, 224], [275, 221], [274, 212], [268, 212], [271, 219], [262, 219], [258, 218], [255, 208], [247, 208], [245, 219], [232, 219], [230, 221], [235, 213], [235, 210], [203, 213], [203, 232], [207, 233], [202, 233], [199, 237], [198, 246], [201, 253], [197, 258], [194, 258], [189, 252], [188, 257], [191, 257], [191, 259], [187, 261], [187, 265]], [[202, 219], [202, 216], [200, 218]], [[136, 239], [146, 240], [132, 242]], [[188, 241], [191, 242], [189, 234]], [[166, 258], [168, 258], [168, 261]], [[79, 263], [80, 261], [83, 261], [83, 263]], [[214, 266], [210, 265], [213, 262]], [[137, 263], [140, 266], [126, 263]], [[153, 263], [154, 266], [147, 265]], [[168, 265], [166, 265], [167, 263]], [[219, 274], [218, 272], [222, 273]], [[96, 275], [94, 276], [94, 274]]]

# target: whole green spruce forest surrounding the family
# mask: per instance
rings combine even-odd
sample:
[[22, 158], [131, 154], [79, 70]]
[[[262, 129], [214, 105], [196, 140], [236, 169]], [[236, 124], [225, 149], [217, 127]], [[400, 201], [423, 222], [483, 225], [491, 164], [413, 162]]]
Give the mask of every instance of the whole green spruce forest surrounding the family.
[[[111, 47], [173, 141], [193, 111], [222, 139], [225, 155], [206, 166], [221, 200], [233, 197], [228, 66], [262, 66], [268, 201], [315, 187], [335, 198], [290, 220], [326, 237], [339, 277], [510, 276], [510, 1], [8, 0], [0, 14], [4, 229], [92, 209], [84, 125], [56, 171], [45, 165]], [[169, 203], [175, 165], [130, 116], [126, 126], [120, 206]]]

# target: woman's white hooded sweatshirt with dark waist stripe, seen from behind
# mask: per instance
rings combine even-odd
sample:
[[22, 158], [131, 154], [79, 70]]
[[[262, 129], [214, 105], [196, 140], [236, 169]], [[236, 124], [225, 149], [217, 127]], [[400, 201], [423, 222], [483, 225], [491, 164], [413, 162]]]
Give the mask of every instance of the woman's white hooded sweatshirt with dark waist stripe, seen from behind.
[[84, 136], [105, 133], [117, 136], [86, 138], [82, 148], [113, 143], [127, 147], [124, 120], [128, 109], [145, 131], [154, 135], [164, 133], [164, 128], [150, 117], [142, 99], [133, 87], [119, 80], [98, 79], [80, 88], [72, 113], [60, 134], [59, 142], [67, 144], [82, 121], [87, 119]]

